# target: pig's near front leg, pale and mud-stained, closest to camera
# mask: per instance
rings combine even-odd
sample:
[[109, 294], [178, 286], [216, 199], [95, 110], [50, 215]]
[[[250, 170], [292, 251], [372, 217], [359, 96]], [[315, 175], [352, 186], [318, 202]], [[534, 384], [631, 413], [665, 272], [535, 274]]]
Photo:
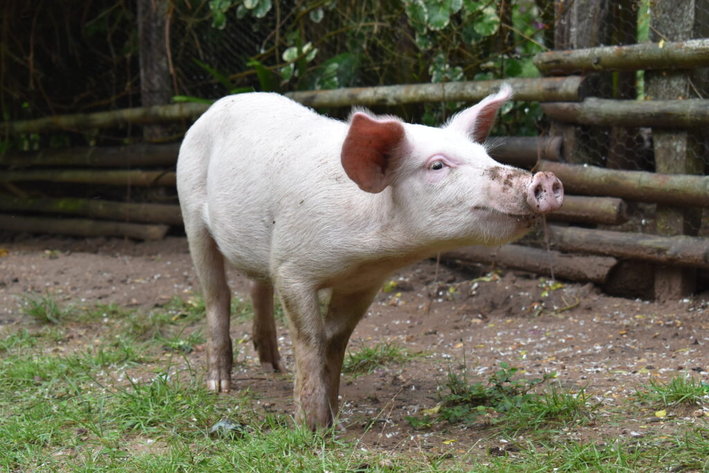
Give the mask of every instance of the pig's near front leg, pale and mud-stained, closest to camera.
[[325, 387], [325, 324], [318, 293], [306, 284], [278, 284], [296, 357], [296, 420], [312, 430], [333, 421]]

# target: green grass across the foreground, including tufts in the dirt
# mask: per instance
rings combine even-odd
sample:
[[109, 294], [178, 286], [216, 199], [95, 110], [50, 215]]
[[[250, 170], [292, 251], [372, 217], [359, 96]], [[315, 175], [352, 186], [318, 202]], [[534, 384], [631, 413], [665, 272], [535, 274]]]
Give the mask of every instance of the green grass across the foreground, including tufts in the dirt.
[[[437, 409], [415, 417], [418, 426], [442, 438], [464, 431], [482, 435], [471, 445], [463, 436], [459, 443], [432, 450], [400, 451], [363, 445], [352, 432], [337, 429], [313, 434], [287, 413], [259, 408], [249, 391], [216, 396], [204, 389], [203, 367], [191, 366], [195, 358], [189, 352], [203, 343], [203, 317], [195, 302], [174, 301], [147, 313], [110, 305], [66, 308], [57, 323], [5, 331], [0, 338], [0, 471], [709, 469], [709, 429], [703, 418], [676, 430], [649, 425], [640, 439], [567, 440], [569, 433], [588, 432], [588, 419], [602, 427], [607, 417], [594, 415], [598, 406], [589, 403], [583, 389], [562, 389], [551, 374], [525, 379], [506, 363], [484, 381], [449, 369]], [[361, 345], [347, 353], [346, 369], [361, 374], [412, 356], [392, 343]], [[687, 377], [651, 382], [644, 401], [704, 403], [705, 388]], [[637, 406], [628, 409], [634, 409], [628, 417], [637, 416]], [[230, 437], [210, 436], [211, 426], [223, 418], [244, 427]], [[406, 423], [396, 428], [411, 429]], [[500, 443], [501, 438], [508, 442]]]

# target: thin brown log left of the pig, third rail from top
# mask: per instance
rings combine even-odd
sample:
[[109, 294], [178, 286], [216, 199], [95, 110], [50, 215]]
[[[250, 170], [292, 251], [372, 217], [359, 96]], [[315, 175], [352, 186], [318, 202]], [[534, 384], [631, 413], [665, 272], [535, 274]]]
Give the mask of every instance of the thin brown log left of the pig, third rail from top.
[[4, 171], [0, 182], [46, 181], [74, 182], [80, 184], [106, 184], [109, 186], [174, 186], [174, 171], [123, 171], [116, 169], [29, 169]]

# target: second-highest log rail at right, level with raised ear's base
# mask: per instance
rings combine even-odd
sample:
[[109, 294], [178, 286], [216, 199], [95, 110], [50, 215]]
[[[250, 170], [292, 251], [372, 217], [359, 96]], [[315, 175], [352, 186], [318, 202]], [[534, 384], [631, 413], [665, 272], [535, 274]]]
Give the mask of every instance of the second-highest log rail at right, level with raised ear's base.
[[709, 100], [613, 100], [542, 104], [554, 120], [593, 126], [696, 128], [709, 126]]

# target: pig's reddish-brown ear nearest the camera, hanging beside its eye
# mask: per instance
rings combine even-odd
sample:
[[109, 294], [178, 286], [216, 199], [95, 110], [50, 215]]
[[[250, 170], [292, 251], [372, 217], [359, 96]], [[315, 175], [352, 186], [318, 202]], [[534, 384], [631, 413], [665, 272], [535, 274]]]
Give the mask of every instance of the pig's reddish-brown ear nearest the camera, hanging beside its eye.
[[403, 140], [400, 121], [378, 120], [367, 113], [354, 113], [350, 120], [340, 160], [359, 189], [376, 194], [391, 183], [396, 148]]

